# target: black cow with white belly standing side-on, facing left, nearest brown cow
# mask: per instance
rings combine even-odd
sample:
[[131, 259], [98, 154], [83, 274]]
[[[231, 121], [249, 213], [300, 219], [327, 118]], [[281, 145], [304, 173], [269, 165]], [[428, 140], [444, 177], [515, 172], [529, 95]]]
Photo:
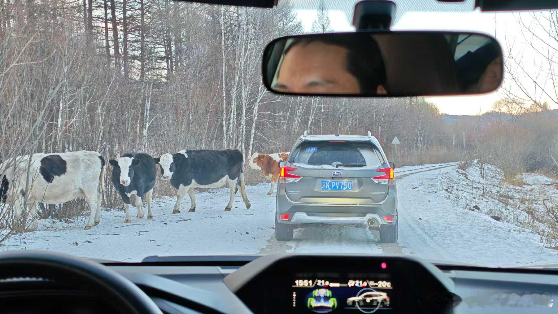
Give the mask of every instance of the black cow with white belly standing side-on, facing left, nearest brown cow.
[[186, 192], [192, 201], [190, 212], [195, 212], [194, 188], [220, 188], [225, 184], [230, 188], [230, 200], [225, 211], [233, 207], [238, 185], [246, 208], [250, 208], [242, 169], [243, 156], [239, 150], [181, 150], [154, 159], [161, 165], [162, 179], [170, 179], [171, 185], [178, 189], [172, 213], [180, 212], [180, 201]]

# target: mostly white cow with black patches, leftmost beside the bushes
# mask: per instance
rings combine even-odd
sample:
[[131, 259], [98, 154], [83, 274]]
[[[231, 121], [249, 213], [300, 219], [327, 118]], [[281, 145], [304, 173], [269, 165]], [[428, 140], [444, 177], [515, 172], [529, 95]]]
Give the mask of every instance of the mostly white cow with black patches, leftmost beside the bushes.
[[91, 209], [85, 229], [91, 229], [100, 220], [104, 168], [103, 156], [96, 151], [41, 153], [31, 158], [27, 155], [8, 159], [0, 164], [0, 200], [15, 205], [14, 217], [18, 220], [27, 196], [31, 229], [36, 229], [37, 202], [60, 204], [85, 198]]

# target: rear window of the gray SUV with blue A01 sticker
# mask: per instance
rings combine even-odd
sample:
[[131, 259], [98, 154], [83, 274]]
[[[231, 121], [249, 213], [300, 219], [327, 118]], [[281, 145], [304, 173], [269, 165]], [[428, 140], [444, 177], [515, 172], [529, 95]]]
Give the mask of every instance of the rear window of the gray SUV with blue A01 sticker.
[[371, 142], [307, 141], [295, 150], [290, 163], [324, 168], [336, 164], [377, 168], [384, 164], [384, 159]]

